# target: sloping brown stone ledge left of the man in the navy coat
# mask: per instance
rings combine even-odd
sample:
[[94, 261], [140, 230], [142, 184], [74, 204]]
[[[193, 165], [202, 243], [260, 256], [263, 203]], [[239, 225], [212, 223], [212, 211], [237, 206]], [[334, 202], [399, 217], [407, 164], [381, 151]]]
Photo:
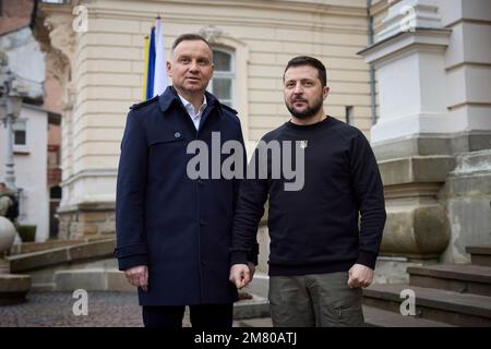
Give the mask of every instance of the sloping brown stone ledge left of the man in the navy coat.
[[84, 242], [45, 251], [23, 253], [8, 256], [11, 273], [25, 273], [52, 267], [55, 265], [94, 261], [113, 255], [116, 240], [113, 238]]

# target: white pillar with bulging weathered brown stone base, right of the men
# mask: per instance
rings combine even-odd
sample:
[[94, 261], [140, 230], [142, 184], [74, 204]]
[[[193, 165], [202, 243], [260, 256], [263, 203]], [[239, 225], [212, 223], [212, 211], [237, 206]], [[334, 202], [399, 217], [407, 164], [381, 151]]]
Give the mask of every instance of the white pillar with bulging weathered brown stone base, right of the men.
[[[454, 155], [491, 147], [491, 124], [453, 112], [457, 106], [445, 89], [456, 40], [442, 24], [442, 9], [455, 5], [450, 2], [455, 1], [396, 2], [375, 44], [360, 52], [378, 74], [380, 119], [371, 141], [386, 195], [381, 252], [388, 261], [441, 258], [451, 238], [442, 193]], [[458, 95], [466, 86], [450, 88]]]

